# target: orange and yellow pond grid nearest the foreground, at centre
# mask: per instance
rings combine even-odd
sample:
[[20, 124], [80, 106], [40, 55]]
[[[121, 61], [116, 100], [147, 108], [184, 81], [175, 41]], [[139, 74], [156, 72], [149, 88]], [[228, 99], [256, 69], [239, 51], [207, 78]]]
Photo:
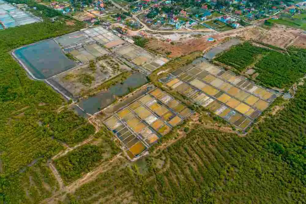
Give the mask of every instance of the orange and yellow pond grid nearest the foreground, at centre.
[[103, 123], [120, 139], [133, 159], [192, 113], [181, 102], [156, 88], [119, 109]]

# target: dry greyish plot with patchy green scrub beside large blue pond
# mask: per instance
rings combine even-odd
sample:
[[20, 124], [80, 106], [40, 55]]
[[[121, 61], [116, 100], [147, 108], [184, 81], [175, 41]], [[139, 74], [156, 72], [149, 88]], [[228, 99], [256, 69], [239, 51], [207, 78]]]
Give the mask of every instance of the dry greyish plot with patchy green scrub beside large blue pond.
[[130, 70], [128, 66], [116, 57], [106, 55], [99, 59], [99, 61], [92, 61], [90, 64], [81, 65], [75, 69], [54, 76], [50, 81], [51, 83], [58, 84], [58, 86], [62, 86], [74, 98], [80, 98], [84, 93], [98, 87], [105, 81], [124, 71]]

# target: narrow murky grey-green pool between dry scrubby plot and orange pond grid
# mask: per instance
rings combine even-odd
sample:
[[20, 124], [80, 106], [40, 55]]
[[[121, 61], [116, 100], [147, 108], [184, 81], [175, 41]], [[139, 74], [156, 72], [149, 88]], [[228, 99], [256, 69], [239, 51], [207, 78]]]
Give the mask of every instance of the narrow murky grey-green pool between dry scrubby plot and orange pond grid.
[[116, 96], [124, 96], [129, 93], [129, 89], [134, 89], [146, 84], [147, 78], [141, 73], [134, 73], [123, 83], [111, 86], [108, 91], [101, 91], [99, 94], [88, 99], [81, 100], [78, 104], [86, 113], [94, 114], [116, 100]]

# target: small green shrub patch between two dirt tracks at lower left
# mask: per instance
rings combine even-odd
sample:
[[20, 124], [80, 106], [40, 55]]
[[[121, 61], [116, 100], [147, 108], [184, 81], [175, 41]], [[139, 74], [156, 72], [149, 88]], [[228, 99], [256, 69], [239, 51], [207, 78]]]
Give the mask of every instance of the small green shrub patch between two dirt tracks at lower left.
[[101, 161], [118, 154], [121, 149], [113, 138], [112, 133], [104, 129], [95, 135], [98, 144], [86, 144], [56, 159], [54, 162], [63, 180], [66, 183], [72, 182], [95, 168]]

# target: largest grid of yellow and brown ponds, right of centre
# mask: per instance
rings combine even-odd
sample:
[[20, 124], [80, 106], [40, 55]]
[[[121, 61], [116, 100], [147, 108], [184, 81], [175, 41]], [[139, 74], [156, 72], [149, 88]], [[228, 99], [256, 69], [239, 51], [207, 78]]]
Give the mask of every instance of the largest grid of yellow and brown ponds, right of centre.
[[277, 97], [207, 62], [177, 69], [160, 80], [167, 87], [245, 130]]

